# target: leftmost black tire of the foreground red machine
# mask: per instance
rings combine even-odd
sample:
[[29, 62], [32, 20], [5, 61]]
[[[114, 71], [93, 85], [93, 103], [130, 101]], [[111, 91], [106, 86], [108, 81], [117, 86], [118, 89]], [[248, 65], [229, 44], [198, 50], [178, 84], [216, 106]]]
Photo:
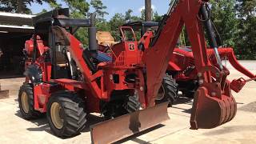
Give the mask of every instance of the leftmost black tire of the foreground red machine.
[[[22, 101], [22, 97], [26, 94], [26, 104], [24, 104], [24, 100]], [[24, 105], [26, 105], [26, 110]], [[34, 94], [33, 94], [33, 87], [30, 84], [23, 84], [20, 87], [18, 92], [18, 106], [22, 117], [31, 120], [36, 118], [42, 118], [43, 114], [37, 110], [34, 110]]]

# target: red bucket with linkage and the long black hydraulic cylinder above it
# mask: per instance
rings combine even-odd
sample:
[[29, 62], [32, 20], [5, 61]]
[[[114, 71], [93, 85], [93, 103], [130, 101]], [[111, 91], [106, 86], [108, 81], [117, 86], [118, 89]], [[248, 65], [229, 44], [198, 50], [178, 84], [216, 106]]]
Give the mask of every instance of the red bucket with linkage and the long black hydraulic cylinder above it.
[[[211, 66], [208, 60], [206, 60], [208, 63], [206, 66], [198, 66], [199, 88], [194, 97], [190, 117], [191, 129], [195, 130], [210, 129], [230, 122], [237, 111], [237, 103], [231, 94], [230, 83], [226, 80], [230, 73], [222, 66], [222, 59], [218, 52], [221, 42], [216, 33], [217, 30], [214, 30], [214, 23], [210, 20], [209, 11], [208, 4], [202, 4], [198, 19], [204, 24], [210, 46], [214, 50], [217, 66]], [[208, 58], [207, 55], [205, 57]]]

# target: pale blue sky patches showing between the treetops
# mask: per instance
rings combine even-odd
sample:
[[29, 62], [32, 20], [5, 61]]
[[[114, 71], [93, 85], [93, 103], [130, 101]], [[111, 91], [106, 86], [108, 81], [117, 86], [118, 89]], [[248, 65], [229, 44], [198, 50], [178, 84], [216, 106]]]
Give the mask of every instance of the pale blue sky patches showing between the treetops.
[[[58, 2], [62, 2], [62, 0], [58, 0]], [[90, 2], [87, 0], [86, 2]], [[107, 6], [106, 12], [109, 15], [106, 15], [106, 20], [110, 20], [116, 13], [125, 14], [126, 10], [133, 10], [133, 15], [141, 15], [140, 10], [142, 10], [145, 0], [102, 0], [103, 5]], [[166, 14], [169, 8], [170, 0], [152, 0], [152, 9], [157, 11], [158, 14]], [[67, 7], [62, 4], [62, 7]], [[32, 10], [33, 14], [38, 14], [42, 11], [42, 9], [50, 10], [50, 6], [46, 3], [43, 5], [32, 4], [29, 6]], [[90, 12], [94, 11], [90, 8]]]

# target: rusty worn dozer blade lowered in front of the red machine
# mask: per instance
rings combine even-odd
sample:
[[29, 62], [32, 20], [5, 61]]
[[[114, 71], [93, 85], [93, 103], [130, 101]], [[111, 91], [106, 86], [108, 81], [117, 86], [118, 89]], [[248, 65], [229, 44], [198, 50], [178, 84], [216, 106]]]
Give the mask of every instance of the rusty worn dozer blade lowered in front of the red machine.
[[167, 106], [168, 102], [165, 102], [146, 110], [138, 110], [91, 126], [91, 142], [93, 144], [117, 142], [122, 138], [156, 126], [169, 119]]

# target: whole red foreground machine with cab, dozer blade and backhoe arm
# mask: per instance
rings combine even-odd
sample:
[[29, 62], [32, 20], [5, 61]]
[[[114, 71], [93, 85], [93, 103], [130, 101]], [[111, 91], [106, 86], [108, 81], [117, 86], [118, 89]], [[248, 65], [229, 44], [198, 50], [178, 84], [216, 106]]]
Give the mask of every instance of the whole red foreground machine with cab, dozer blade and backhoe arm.
[[[114, 142], [168, 119], [167, 103], [155, 105], [155, 100], [182, 26], [186, 26], [199, 85], [191, 128], [210, 129], [230, 122], [237, 104], [226, 80], [229, 72], [218, 54], [207, 2], [172, 1], [147, 48], [137, 42], [134, 30], [122, 27], [122, 42], [111, 47], [110, 55], [98, 51], [94, 17], [72, 19], [68, 10], [54, 10], [34, 18], [33, 53], [28, 54], [31, 64], [18, 98], [23, 117], [38, 118], [46, 113], [54, 134], [70, 137], [84, 128], [86, 114], [104, 114], [110, 120], [90, 127], [93, 143]], [[74, 38], [81, 26], [89, 29], [86, 50]], [[203, 26], [218, 65], [207, 57]]]

